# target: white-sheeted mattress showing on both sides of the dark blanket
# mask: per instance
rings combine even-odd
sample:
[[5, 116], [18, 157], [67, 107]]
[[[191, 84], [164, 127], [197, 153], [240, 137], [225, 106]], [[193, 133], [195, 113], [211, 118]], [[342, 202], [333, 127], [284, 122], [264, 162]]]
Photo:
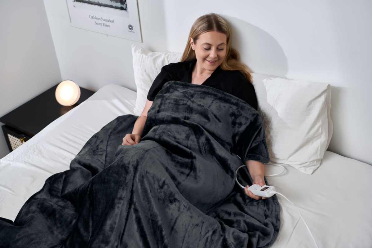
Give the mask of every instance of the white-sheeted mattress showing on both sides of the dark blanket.
[[[107, 85], [2, 158], [0, 217], [14, 220], [49, 176], [68, 170], [94, 133], [119, 115], [134, 114], [135, 100], [135, 91]], [[371, 165], [327, 151], [312, 175], [284, 166], [285, 173], [267, 181], [297, 206], [319, 247], [372, 247]], [[272, 247], [315, 247], [291, 203], [278, 199], [281, 228]]]

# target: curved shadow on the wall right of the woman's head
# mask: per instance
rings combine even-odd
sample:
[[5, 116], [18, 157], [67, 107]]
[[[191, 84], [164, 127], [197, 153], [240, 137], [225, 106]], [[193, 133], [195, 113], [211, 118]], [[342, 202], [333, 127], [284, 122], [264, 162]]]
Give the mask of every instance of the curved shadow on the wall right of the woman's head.
[[[220, 14], [219, 14], [220, 15]], [[278, 41], [266, 31], [235, 17], [220, 15], [231, 30], [231, 46], [253, 73], [286, 77], [287, 58]]]

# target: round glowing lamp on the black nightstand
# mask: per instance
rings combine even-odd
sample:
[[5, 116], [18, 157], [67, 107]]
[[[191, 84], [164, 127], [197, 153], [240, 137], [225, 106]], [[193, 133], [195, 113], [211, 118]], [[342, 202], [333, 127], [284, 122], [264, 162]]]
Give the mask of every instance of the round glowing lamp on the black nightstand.
[[71, 80], [64, 80], [55, 90], [55, 99], [63, 106], [74, 105], [80, 98], [80, 87]]

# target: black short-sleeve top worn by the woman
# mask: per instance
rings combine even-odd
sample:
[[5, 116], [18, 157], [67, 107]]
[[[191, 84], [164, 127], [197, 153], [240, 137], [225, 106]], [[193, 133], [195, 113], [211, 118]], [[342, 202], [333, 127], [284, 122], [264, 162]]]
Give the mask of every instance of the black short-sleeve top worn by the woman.
[[[147, 99], [153, 102], [163, 85], [169, 81], [191, 83], [192, 70], [195, 64], [196, 59], [165, 65], [161, 68], [159, 75], [157, 75], [151, 85]], [[254, 87], [240, 71], [223, 71], [220, 67], [217, 67], [202, 85], [232, 94], [257, 110], [257, 98]]]

